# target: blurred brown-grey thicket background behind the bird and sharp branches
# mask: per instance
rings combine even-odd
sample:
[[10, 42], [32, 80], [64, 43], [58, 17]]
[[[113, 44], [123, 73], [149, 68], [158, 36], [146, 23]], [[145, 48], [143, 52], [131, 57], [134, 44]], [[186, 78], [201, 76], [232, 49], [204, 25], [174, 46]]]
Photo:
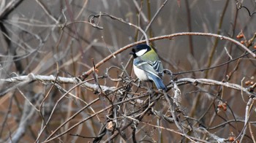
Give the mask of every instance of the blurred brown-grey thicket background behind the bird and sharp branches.
[[[56, 106], [48, 128], [38, 137], [44, 125], [43, 120], [48, 120], [56, 101], [74, 84], [60, 83], [60, 89], [49, 82], [33, 81], [19, 85], [17, 82], [4, 82], [4, 79], [29, 73], [78, 77], [93, 67], [93, 61], [98, 63], [121, 47], [140, 41], [143, 34], [138, 28], [129, 26], [127, 23], [145, 30], [151, 20], [152, 23], [146, 31], [148, 38], [189, 31], [212, 33], [228, 36], [253, 50], [256, 14], [251, 14], [255, 12], [255, 6], [256, 3], [252, 0], [1, 0], [1, 142], [11, 142], [11, 140], [13, 142], [35, 142], [38, 138], [38, 142], [43, 142], [61, 123], [85, 106], [77, 98], [67, 96]], [[121, 18], [125, 22], [101, 16], [104, 13]], [[91, 15], [99, 15], [99, 18], [92, 20]], [[99, 28], [94, 26], [99, 26]], [[249, 39], [252, 40], [249, 41]], [[245, 88], [255, 83], [255, 58], [251, 55], [238, 58], [245, 51], [230, 41], [210, 36], [184, 35], [172, 39], [160, 39], [151, 42], [151, 45], [157, 50], [165, 69], [173, 71], [176, 79], [206, 78], [243, 85]], [[129, 51], [130, 49], [124, 50], [115, 58], [99, 66], [97, 73], [99, 77], [105, 75], [106, 70], [112, 66], [123, 69], [122, 67], [127, 64], [125, 70], [129, 77], [135, 79], [132, 73], [132, 63], [129, 61]], [[238, 59], [223, 66], [203, 70], [235, 58]], [[185, 73], [178, 74], [180, 72]], [[108, 72], [108, 75], [113, 78], [120, 77], [120, 74], [121, 70], [115, 68]], [[92, 74], [86, 79], [91, 78], [93, 78]], [[168, 77], [164, 80], [166, 84], [170, 82]], [[91, 80], [90, 83], [95, 82]], [[99, 83], [108, 87], [118, 86], [116, 82], [104, 78], [99, 80]], [[197, 127], [201, 125], [204, 128], [211, 128], [226, 123], [228, 120], [234, 120], [234, 118], [244, 120], [248, 96], [245, 93], [241, 94], [239, 90], [206, 85], [200, 87], [182, 85], [179, 88], [182, 96], [182, 110], [187, 116], [199, 120], [196, 123]], [[132, 88], [132, 91], [135, 92], [135, 88]], [[70, 93], [86, 103], [98, 97], [93, 91], [82, 87]], [[47, 98], [42, 101], [45, 96]], [[217, 97], [221, 100], [217, 100]], [[219, 102], [227, 102], [229, 109], [219, 112], [217, 109]], [[161, 103], [164, 104], [165, 101], [162, 99]], [[41, 112], [38, 111], [40, 104], [43, 104]], [[106, 101], [100, 100], [91, 108], [99, 111], [107, 105]], [[252, 109], [255, 109], [253, 105], [255, 104], [252, 104]], [[162, 106], [162, 104], [157, 104], [156, 108], [161, 109]], [[29, 112], [29, 115], [23, 117], [24, 112]], [[62, 127], [58, 134], [91, 114], [89, 109], [80, 112], [69, 124]], [[64, 134], [55, 142], [92, 142], [93, 136], [99, 134], [99, 128], [105, 122], [107, 114], [108, 112], [104, 112], [98, 117], [93, 117], [78, 125], [71, 132], [80, 136], [91, 136], [91, 138]], [[255, 123], [253, 123], [256, 120], [255, 111], [252, 111], [249, 120], [252, 121], [252, 131], [256, 134]], [[177, 129], [175, 125], [165, 123], [165, 120], [162, 120], [160, 124], [157, 124], [156, 118], [150, 121], [155, 125]], [[23, 132], [20, 132], [20, 125], [24, 123], [26, 125], [22, 128]], [[236, 138], [243, 127], [244, 122], [241, 121], [208, 131], [229, 139], [230, 136]], [[171, 131], [163, 130], [160, 136], [159, 128], [149, 125], [140, 125], [140, 130], [136, 138], [138, 142], [143, 142], [143, 139], [148, 142], [185, 142], [182, 136]], [[132, 142], [129, 137], [131, 132], [126, 131], [127, 142]], [[192, 136], [192, 134], [189, 135]], [[252, 142], [251, 135], [247, 129], [246, 142]], [[104, 136], [103, 139], [108, 139], [109, 136], [110, 134]], [[195, 135], [195, 137], [206, 139], [203, 135]], [[118, 136], [113, 141], [121, 142], [121, 139]]]

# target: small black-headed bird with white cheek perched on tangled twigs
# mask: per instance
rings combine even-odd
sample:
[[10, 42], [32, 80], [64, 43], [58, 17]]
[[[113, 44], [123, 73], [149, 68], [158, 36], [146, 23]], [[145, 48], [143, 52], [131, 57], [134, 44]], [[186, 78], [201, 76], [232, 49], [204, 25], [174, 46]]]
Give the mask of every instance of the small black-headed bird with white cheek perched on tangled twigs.
[[167, 90], [162, 81], [163, 66], [157, 53], [150, 46], [141, 44], [132, 48], [133, 69], [140, 81], [153, 81], [158, 90]]

